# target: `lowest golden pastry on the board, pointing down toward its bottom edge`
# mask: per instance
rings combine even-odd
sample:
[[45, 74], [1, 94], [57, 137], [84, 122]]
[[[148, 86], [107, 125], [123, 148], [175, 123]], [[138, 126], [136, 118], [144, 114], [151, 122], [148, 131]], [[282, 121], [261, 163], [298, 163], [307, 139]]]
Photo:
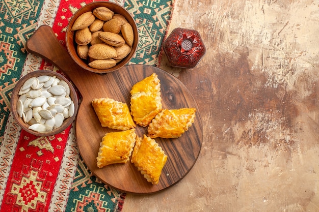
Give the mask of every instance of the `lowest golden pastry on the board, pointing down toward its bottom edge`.
[[136, 137], [131, 162], [138, 168], [147, 181], [158, 184], [162, 169], [167, 161], [161, 146], [154, 139], [143, 135]]

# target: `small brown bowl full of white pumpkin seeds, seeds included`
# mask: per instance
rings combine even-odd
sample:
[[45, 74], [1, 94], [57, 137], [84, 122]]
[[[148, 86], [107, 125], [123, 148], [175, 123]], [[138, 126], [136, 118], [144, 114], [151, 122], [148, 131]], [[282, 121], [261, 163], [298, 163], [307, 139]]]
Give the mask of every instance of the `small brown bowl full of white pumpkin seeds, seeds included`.
[[72, 84], [61, 74], [40, 70], [22, 77], [11, 94], [14, 119], [37, 136], [55, 135], [75, 119], [78, 101]]

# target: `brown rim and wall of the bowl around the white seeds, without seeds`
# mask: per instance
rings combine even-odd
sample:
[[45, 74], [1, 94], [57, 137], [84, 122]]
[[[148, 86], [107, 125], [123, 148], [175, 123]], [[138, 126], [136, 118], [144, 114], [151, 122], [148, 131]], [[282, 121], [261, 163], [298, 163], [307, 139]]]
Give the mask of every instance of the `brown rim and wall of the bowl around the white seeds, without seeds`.
[[[27, 123], [24, 123], [22, 117], [19, 116], [18, 110], [17, 110], [17, 103], [18, 103], [18, 99], [20, 97], [19, 90], [20, 90], [21, 86], [24, 84], [24, 82], [26, 80], [28, 80], [32, 77], [38, 77], [38, 76], [42, 76], [42, 75], [56, 76], [58, 79], [64, 80], [70, 87], [70, 97], [74, 103], [74, 114], [71, 117], [65, 118], [63, 121], [63, 124], [59, 128], [53, 129], [53, 130], [51, 130], [49, 132], [45, 132], [45, 133], [39, 133], [39, 132], [28, 129], [30, 127], [30, 125]], [[10, 104], [11, 104], [11, 111], [12, 111], [13, 117], [17, 121], [19, 126], [22, 129], [24, 129], [25, 131], [27, 131], [33, 135], [37, 135], [37, 136], [50, 136], [50, 135], [55, 135], [55, 134], [62, 132], [63, 130], [65, 130], [67, 127], [69, 127], [73, 123], [75, 116], [76, 116], [76, 113], [77, 113], [77, 109], [78, 109], [77, 95], [76, 95], [76, 92], [75, 92], [73, 85], [63, 75], [61, 75], [57, 72], [49, 71], [49, 70], [34, 71], [34, 72], [22, 77], [17, 82], [15, 87], [13, 88], [13, 91], [11, 94]]]

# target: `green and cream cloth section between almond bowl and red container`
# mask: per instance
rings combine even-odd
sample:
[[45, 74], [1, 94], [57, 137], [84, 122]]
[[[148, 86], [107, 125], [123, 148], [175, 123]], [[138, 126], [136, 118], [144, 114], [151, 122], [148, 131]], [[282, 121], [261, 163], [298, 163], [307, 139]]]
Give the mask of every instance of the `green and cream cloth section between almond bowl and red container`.
[[158, 66], [158, 55], [171, 18], [172, 1], [127, 0], [124, 7], [134, 17], [140, 37], [136, 55], [130, 64]]

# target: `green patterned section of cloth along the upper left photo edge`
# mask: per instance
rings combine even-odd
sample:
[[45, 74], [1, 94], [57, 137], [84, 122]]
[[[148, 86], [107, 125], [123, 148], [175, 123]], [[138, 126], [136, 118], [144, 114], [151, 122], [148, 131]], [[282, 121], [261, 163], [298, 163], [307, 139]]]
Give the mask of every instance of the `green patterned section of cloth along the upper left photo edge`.
[[10, 95], [26, 57], [24, 44], [36, 28], [39, 0], [0, 1], [0, 142], [10, 113]]

